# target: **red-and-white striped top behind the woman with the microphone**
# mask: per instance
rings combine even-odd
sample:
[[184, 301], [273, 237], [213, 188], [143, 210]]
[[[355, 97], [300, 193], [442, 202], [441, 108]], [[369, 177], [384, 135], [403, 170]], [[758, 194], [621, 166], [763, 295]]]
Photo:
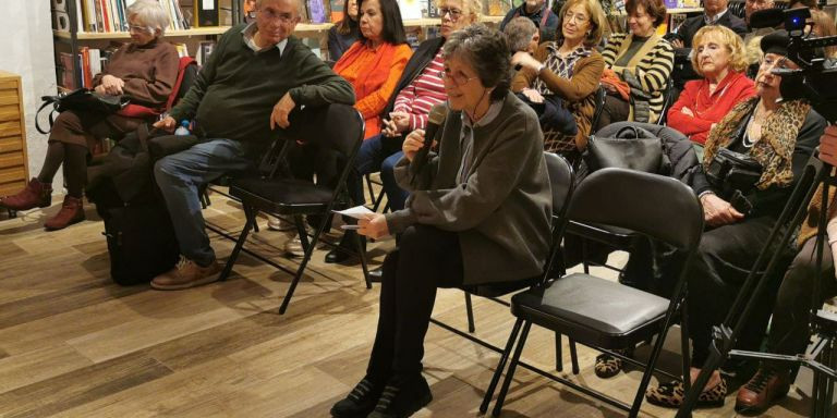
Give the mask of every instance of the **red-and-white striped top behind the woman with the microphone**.
[[[396, 104], [392, 110], [410, 113], [408, 132], [423, 130], [427, 126], [427, 115], [430, 113], [430, 108], [448, 99], [445, 85], [439, 77], [439, 72], [442, 70], [445, 70], [445, 65], [441, 59], [441, 49], [439, 49], [433, 61], [396, 97]], [[388, 115], [385, 114], [384, 116], [387, 118]]]

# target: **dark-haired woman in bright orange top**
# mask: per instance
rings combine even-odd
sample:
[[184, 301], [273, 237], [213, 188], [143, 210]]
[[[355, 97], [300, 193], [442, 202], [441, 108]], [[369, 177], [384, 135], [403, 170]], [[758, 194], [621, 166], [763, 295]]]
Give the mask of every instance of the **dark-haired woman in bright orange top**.
[[380, 113], [413, 51], [396, 0], [359, 0], [357, 10], [360, 38], [335, 64], [335, 72], [354, 87], [354, 108], [363, 114], [368, 139], [380, 133]]

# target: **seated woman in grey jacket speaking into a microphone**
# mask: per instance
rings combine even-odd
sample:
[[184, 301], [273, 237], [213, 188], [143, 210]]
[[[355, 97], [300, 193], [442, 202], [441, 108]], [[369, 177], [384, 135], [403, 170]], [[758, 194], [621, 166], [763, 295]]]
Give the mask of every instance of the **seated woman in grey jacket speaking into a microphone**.
[[422, 358], [437, 287], [523, 280], [544, 268], [551, 198], [543, 136], [535, 113], [509, 93], [510, 56], [502, 34], [482, 25], [445, 44], [450, 110], [439, 152], [422, 164], [424, 131], [408, 135], [396, 167], [411, 190], [407, 208], [360, 221], [373, 238], [403, 234], [384, 261], [366, 374], [333, 417], [408, 417], [430, 402]]

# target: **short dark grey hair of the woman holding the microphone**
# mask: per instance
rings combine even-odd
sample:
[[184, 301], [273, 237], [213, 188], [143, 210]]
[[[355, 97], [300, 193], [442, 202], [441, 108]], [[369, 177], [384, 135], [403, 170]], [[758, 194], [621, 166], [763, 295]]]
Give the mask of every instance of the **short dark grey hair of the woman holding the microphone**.
[[448, 37], [441, 49], [445, 60], [464, 59], [476, 72], [485, 87], [494, 87], [492, 100], [500, 100], [511, 86], [511, 52], [506, 36], [483, 24], [457, 30]]

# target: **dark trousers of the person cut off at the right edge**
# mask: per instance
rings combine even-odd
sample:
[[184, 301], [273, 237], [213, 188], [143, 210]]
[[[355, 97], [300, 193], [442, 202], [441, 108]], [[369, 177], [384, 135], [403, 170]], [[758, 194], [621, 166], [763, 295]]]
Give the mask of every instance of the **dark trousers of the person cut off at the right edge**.
[[[817, 306], [821, 306], [825, 299], [837, 295], [837, 280], [827, 244], [823, 248], [822, 270], [816, 271], [816, 238], [812, 237], [802, 245], [779, 286], [767, 337], [769, 353], [793, 355], [804, 352], [811, 335], [809, 311], [817, 280], [821, 286]], [[790, 366], [785, 365], [785, 368]]]

